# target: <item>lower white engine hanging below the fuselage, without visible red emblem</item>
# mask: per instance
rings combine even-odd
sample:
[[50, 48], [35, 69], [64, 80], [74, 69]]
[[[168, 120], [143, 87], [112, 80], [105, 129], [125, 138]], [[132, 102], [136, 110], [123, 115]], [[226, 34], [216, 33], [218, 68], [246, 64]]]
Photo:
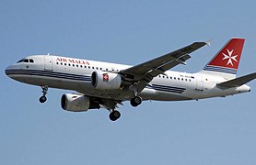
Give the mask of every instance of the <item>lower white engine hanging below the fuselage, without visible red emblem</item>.
[[99, 109], [99, 104], [93, 103], [87, 96], [65, 93], [61, 100], [62, 108], [66, 111], [82, 112], [88, 109]]

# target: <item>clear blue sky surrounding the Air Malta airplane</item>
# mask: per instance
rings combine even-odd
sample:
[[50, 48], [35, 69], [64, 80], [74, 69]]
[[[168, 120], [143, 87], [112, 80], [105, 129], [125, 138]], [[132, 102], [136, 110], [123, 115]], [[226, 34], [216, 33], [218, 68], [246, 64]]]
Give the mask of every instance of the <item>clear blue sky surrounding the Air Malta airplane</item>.
[[256, 164], [256, 81], [250, 93], [190, 102], [125, 103], [111, 122], [106, 110], [70, 113], [51, 89], [15, 82], [4, 70], [31, 54], [137, 64], [193, 41], [196, 72], [227, 39], [246, 38], [239, 75], [256, 71], [255, 1], [0, 2], [0, 164]]

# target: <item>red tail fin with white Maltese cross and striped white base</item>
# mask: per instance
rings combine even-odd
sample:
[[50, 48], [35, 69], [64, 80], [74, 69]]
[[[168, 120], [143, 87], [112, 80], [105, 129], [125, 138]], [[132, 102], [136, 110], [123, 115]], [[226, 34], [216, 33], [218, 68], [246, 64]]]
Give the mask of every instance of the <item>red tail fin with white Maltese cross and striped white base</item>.
[[218, 51], [201, 72], [217, 75], [227, 80], [236, 78], [244, 41], [244, 38], [228, 40], [227, 44]]

